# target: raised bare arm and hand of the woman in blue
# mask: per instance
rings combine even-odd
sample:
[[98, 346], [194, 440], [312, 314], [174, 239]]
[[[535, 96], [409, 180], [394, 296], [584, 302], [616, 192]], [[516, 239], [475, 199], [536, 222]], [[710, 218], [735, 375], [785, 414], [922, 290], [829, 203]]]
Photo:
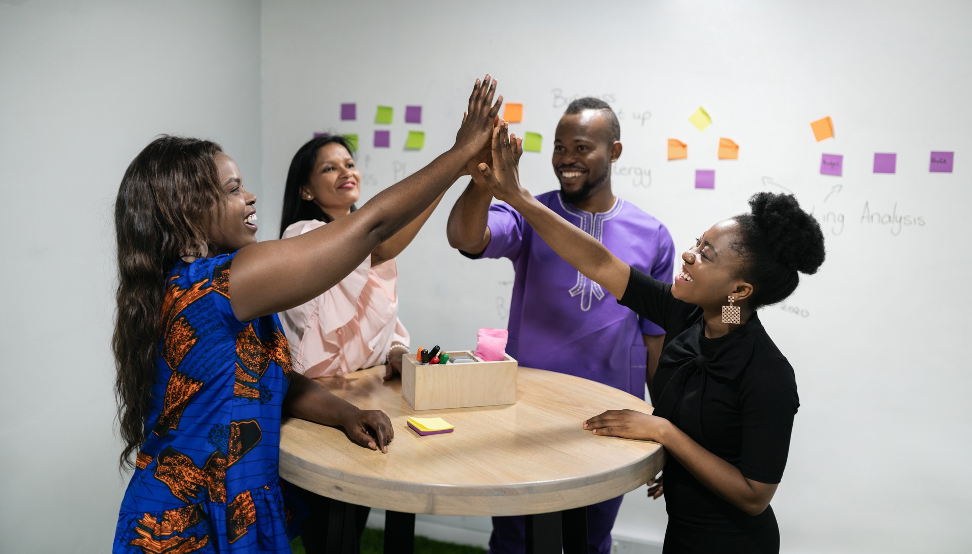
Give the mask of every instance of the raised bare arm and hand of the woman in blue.
[[496, 81], [476, 80], [456, 143], [432, 163], [382, 190], [361, 209], [333, 223], [239, 250], [229, 272], [230, 302], [241, 321], [280, 312], [324, 293], [382, 242], [428, 208], [470, 158], [490, 140], [503, 96]]

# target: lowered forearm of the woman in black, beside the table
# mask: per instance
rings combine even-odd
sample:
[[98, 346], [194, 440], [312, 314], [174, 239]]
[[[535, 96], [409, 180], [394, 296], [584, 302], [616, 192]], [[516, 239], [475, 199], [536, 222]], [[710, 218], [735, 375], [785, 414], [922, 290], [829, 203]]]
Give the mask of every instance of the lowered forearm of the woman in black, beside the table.
[[693, 477], [716, 496], [749, 515], [758, 515], [766, 509], [776, 492], [776, 485], [746, 479], [738, 467], [712, 454], [671, 422], [665, 421], [667, 425], [658, 442]]

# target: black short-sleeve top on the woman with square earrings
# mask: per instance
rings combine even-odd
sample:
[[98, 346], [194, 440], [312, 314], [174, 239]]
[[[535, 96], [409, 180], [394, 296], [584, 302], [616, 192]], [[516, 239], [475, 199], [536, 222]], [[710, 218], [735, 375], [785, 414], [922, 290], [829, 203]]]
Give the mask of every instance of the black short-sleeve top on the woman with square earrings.
[[[707, 338], [702, 308], [677, 299], [672, 285], [634, 267], [618, 302], [665, 329], [652, 383], [654, 414], [747, 478], [779, 483], [800, 402], [793, 367], [756, 314], [738, 329]], [[671, 517], [745, 528], [764, 523], [715, 496], [671, 456], [664, 483]]]

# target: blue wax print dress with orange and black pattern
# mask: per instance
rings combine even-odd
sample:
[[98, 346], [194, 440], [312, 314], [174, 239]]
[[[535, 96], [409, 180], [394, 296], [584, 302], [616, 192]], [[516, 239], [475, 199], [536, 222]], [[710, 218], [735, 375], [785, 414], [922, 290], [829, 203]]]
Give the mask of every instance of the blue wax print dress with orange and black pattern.
[[149, 436], [116, 553], [291, 551], [277, 470], [290, 347], [275, 314], [233, 315], [234, 255], [180, 261], [169, 274]]

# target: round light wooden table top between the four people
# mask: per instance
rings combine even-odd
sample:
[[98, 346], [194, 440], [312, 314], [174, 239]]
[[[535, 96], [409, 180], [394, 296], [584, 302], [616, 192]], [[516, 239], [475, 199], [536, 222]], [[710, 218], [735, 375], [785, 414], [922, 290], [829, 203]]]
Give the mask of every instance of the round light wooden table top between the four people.
[[[395, 429], [388, 454], [351, 442], [340, 429], [287, 419], [280, 435], [284, 479], [392, 512], [524, 515], [621, 496], [664, 465], [655, 442], [582, 429], [585, 419], [608, 409], [651, 412], [642, 399], [608, 385], [521, 367], [515, 404], [416, 412], [401, 398], [401, 381], [382, 381], [384, 373], [377, 366], [317, 382], [360, 408], [388, 414]], [[441, 417], [455, 431], [421, 436], [405, 425], [409, 417]]]

